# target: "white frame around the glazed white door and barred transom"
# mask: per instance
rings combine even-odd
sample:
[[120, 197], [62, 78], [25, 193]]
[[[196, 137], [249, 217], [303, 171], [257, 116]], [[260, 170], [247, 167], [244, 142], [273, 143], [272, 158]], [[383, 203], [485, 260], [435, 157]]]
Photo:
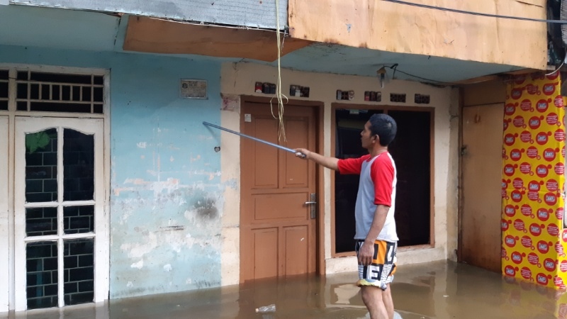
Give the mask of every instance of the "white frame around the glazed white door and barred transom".
[[[8, 142], [8, 156], [7, 156], [7, 167], [8, 169], [8, 182], [7, 182], [7, 216], [8, 218], [1, 218], [1, 206], [0, 206], [0, 243], [8, 242], [7, 259], [2, 262], [0, 259], [0, 273], [7, 274], [6, 276], [7, 285], [0, 285], [0, 307], [4, 303], [9, 305], [9, 310], [23, 310], [21, 308], [16, 309], [16, 255], [15, 255], [15, 209], [14, 209], [14, 183], [15, 181], [15, 121], [16, 116], [30, 116], [30, 117], [45, 117], [45, 118], [102, 118], [104, 121], [103, 128], [103, 218], [104, 218], [104, 230], [103, 235], [106, 244], [103, 244], [105, 250], [96, 257], [95, 263], [97, 269], [101, 269], [101, 276], [96, 279], [96, 284], [99, 284], [100, 293], [95, 293], [95, 302], [104, 301], [108, 299], [108, 291], [110, 289], [110, 110], [111, 110], [111, 86], [110, 79], [111, 73], [109, 69], [93, 69], [93, 68], [82, 68], [82, 67], [58, 67], [58, 66], [45, 66], [45, 65], [26, 65], [26, 64], [8, 64], [0, 63], [0, 69], [9, 70], [9, 101], [8, 101], [8, 111], [0, 110], [0, 117], [6, 116], [8, 118], [8, 128], [9, 128], [9, 140]], [[103, 76], [103, 113], [65, 113], [65, 112], [45, 112], [45, 111], [16, 111], [16, 77], [18, 71], [31, 71], [31, 72], [50, 72], [50, 73], [62, 73], [62, 74], [93, 74]], [[0, 142], [1, 147], [1, 142]], [[0, 153], [1, 154], [1, 153]], [[0, 158], [0, 162], [6, 160], [6, 157]], [[5, 166], [6, 167], [6, 166]], [[0, 179], [2, 178], [0, 174]], [[1, 184], [1, 180], [0, 180]], [[1, 194], [0, 187], [0, 196]], [[1, 198], [1, 197], [0, 197]], [[6, 202], [6, 201], [4, 201]], [[7, 225], [6, 225], [7, 223]], [[7, 230], [2, 231], [2, 230]], [[0, 252], [2, 250], [0, 245]], [[6, 245], [4, 245], [4, 250], [6, 250]], [[96, 270], [98, 273], [98, 271]], [[3, 277], [0, 275], [0, 279]], [[6, 289], [7, 286], [7, 289]], [[26, 289], [26, 287], [18, 287], [18, 289]], [[98, 296], [98, 298], [97, 298]], [[8, 298], [6, 301], [5, 299]], [[3, 309], [0, 308], [0, 312]]]

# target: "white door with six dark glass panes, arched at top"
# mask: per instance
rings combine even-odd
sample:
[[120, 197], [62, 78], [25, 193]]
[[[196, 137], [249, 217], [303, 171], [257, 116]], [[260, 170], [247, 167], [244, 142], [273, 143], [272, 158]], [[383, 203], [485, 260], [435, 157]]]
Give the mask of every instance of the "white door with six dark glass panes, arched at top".
[[16, 117], [15, 130], [16, 310], [104, 300], [103, 120]]

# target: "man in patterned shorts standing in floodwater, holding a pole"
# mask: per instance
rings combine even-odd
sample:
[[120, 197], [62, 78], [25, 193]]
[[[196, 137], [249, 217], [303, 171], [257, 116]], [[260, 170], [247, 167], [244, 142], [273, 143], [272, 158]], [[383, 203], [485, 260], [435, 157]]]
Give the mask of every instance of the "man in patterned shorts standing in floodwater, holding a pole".
[[369, 151], [356, 159], [325, 157], [303, 148], [296, 155], [312, 159], [340, 174], [359, 174], [359, 191], [354, 208], [357, 233], [354, 235], [358, 257], [362, 301], [371, 319], [392, 319], [394, 305], [390, 283], [395, 273], [398, 235], [395, 231], [395, 163], [388, 145], [398, 127], [391, 116], [374, 114], [360, 133], [362, 147]]

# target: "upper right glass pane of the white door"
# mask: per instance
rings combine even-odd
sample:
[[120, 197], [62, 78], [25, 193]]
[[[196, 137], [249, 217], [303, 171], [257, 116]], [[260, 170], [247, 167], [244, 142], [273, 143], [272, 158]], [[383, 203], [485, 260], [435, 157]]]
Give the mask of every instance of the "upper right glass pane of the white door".
[[94, 135], [63, 132], [63, 200], [94, 199]]

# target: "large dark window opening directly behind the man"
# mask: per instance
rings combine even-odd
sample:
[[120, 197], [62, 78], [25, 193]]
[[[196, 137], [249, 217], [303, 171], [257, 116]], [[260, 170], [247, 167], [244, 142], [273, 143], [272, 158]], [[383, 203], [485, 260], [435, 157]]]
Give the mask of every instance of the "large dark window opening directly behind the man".
[[[335, 109], [335, 156], [360, 157], [364, 123], [375, 113], [388, 113], [398, 123], [390, 152], [398, 171], [395, 222], [400, 247], [430, 245], [431, 234], [431, 134], [430, 110]], [[335, 253], [354, 251], [354, 205], [358, 175], [335, 172]]]

